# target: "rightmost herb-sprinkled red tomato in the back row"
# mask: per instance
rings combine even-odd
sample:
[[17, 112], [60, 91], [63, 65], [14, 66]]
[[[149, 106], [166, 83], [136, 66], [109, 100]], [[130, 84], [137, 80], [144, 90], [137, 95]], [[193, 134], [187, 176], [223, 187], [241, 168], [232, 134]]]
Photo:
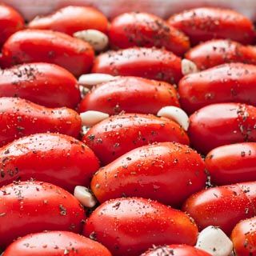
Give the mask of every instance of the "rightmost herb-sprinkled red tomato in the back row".
[[202, 7], [174, 14], [171, 26], [182, 30], [195, 45], [212, 38], [228, 38], [244, 44], [254, 42], [254, 25], [234, 10]]

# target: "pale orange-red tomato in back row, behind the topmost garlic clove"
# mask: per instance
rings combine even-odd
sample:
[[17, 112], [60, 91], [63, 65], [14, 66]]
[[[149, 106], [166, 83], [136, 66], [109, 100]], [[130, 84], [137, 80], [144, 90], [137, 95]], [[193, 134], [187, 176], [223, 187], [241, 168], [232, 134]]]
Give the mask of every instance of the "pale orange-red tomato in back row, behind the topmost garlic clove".
[[28, 27], [36, 30], [55, 30], [71, 36], [80, 30], [107, 31], [107, 18], [89, 6], [66, 6], [52, 14], [34, 18]]

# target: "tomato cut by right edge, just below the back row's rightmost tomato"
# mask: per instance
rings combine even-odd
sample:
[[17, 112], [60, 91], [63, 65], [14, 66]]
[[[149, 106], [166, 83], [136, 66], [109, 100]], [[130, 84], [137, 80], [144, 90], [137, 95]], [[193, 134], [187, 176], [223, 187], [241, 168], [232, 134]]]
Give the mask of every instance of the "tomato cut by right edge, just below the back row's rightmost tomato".
[[230, 62], [256, 64], [256, 50], [254, 46], [242, 44], [226, 39], [215, 39], [202, 42], [191, 48], [185, 55], [194, 62], [199, 70], [206, 70]]

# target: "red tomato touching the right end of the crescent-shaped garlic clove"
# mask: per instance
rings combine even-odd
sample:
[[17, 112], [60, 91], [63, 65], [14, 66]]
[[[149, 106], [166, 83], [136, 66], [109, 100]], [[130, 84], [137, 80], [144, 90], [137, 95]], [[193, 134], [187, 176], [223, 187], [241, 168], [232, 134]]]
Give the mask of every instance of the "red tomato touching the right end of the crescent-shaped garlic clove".
[[240, 103], [205, 106], [190, 116], [191, 145], [203, 154], [215, 147], [256, 142], [256, 108]]

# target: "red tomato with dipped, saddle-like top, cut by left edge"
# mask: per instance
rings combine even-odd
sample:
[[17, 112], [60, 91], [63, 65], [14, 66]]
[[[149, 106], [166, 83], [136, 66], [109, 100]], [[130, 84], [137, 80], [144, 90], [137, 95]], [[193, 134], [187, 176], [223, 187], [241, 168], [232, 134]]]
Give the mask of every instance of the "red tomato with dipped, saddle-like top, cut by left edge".
[[81, 118], [74, 110], [46, 108], [21, 98], [0, 98], [0, 146], [46, 132], [78, 138], [80, 129]]

